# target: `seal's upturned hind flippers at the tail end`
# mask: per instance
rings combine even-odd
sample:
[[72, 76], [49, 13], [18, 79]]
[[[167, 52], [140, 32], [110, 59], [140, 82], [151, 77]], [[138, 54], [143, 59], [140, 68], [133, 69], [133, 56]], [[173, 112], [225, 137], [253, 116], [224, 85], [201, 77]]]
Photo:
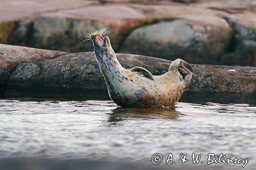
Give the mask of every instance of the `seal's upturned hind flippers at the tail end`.
[[194, 69], [193, 67], [182, 59], [174, 60], [169, 66], [169, 72], [172, 75], [176, 75], [180, 81], [185, 84], [185, 88], [188, 87], [192, 79]]

